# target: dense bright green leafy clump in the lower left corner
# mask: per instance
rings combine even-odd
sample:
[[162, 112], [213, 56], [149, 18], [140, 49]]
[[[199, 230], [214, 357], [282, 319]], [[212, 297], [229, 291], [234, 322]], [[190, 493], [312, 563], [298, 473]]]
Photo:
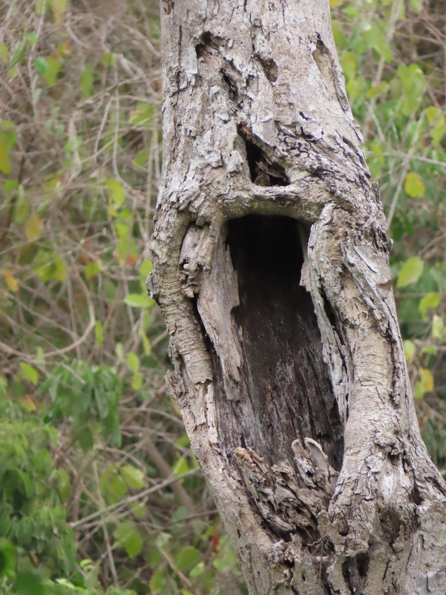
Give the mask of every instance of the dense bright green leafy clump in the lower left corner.
[[[5, 568], [14, 547], [32, 552], [34, 562], [48, 572], [74, 569], [73, 531], [67, 524], [61, 491], [67, 472], [51, 458], [56, 430], [42, 419], [26, 415], [26, 404], [0, 401], [0, 535]], [[29, 560], [26, 560], [25, 567]]]

